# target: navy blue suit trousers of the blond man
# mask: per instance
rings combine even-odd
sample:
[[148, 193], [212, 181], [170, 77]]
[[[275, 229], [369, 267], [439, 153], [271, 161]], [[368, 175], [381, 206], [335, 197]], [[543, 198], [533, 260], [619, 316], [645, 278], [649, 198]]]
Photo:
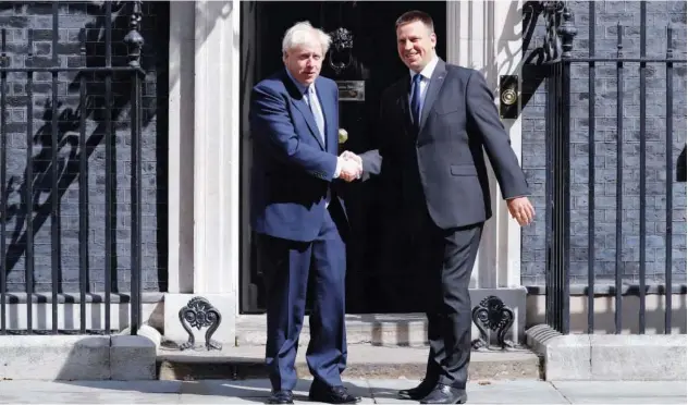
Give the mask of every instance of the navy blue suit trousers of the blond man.
[[266, 277], [268, 336], [266, 364], [273, 390], [293, 390], [298, 338], [304, 323], [309, 273], [314, 308], [306, 361], [315, 383], [342, 385], [346, 367], [344, 286], [346, 257], [342, 237], [328, 210], [312, 242], [260, 234], [257, 240]]

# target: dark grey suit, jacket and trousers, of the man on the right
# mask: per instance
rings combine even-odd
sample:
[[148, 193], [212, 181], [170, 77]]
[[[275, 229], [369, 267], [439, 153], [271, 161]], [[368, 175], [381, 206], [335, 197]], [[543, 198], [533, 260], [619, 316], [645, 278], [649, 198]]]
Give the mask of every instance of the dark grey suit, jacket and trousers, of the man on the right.
[[[527, 195], [528, 186], [479, 72], [440, 60], [419, 128], [411, 124], [409, 89], [405, 75], [384, 91], [379, 155], [361, 158], [364, 170], [380, 174], [385, 188], [385, 260], [400, 257], [402, 228], [413, 235], [416, 271], [422, 272], [422, 283], [413, 285], [427, 289], [427, 378], [463, 389], [470, 358], [468, 284], [482, 224], [492, 216], [483, 150], [504, 198]], [[403, 263], [386, 266], [389, 277], [397, 265]]]

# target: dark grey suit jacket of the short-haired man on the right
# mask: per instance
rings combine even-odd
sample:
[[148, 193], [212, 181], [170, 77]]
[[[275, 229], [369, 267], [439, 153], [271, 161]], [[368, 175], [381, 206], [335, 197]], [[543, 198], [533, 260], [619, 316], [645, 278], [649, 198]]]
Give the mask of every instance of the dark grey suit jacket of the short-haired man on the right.
[[[528, 185], [480, 72], [440, 60], [428, 84], [420, 126], [411, 124], [410, 77], [390, 86], [380, 111], [380, 174], [388, 202], [418, 198], [441, 229], [492, 216], [487, 152], [504, 198], [528, 194]], [[364, 156], [376, 174], [376, 154]], [[368, 160], [366, 162], [366, 160]]]

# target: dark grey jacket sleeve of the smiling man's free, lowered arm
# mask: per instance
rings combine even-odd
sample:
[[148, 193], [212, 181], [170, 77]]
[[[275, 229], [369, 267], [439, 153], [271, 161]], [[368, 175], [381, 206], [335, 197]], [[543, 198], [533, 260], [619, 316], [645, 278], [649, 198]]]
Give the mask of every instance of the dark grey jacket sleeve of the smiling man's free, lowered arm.
[[474, 71], [466, 85], [466, 109], [470, 130], [478, 134], [500, 184], [504, 199], [529, 194], [524, 171], [502, 125], [492, 91], [482, 74]]

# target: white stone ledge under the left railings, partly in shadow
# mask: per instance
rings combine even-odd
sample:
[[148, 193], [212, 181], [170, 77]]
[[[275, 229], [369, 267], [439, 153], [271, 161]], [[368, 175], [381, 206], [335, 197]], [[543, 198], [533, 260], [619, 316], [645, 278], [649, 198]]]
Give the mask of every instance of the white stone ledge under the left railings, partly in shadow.
[[[143, 330], [146, 335], [157, 333], [149, 327]], [[3, 335], [0, 380], [153, 380], [157, 352], [156, 340], [144, 333]]]

